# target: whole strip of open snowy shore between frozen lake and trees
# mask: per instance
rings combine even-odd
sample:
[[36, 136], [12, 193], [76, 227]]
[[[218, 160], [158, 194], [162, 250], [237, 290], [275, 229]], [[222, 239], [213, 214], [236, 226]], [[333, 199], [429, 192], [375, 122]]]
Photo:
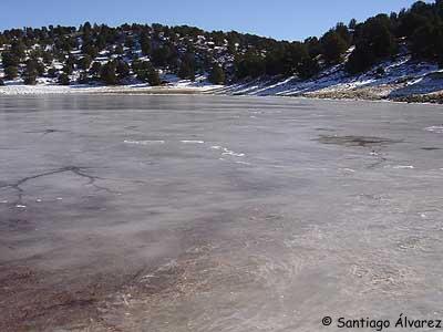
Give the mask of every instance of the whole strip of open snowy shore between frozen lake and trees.
[[[383, 70], [380, 70], [383, 69]], [[74, 73], [75, 75], [76, 73]], [[310, 80], [298, 76], [286, 79], [267, 77], [245, 80], [235, 84], [214, 85], [207, 75], [199, 75], [195, 81], [181, 80], [174, 74], [164, 73], [162, 87], [151, 87], [145, 83], [128, 82], [121, 86], [102, 84], [58, 85], [53, 80], [39, 79], [34, 86], [24, 85], [21, 80], [7, 82], [0, 87], [0, 94], [45, 94], [45, 93], [103, 93], [103, 92], [171, 92], [171, 93], [215, 93], [230, 95], [259, 96], [310, 96], [328, 98], [363, 100], [408, 100], [408, 97], [427, 95], [427, 101], [440, 101], [443, 94], [443, 70], [435, 64], [416, 62], [403, 54], [393, 61], [378, 64], [372, 70], [349, 75], [343, 64], [322, 71]]]

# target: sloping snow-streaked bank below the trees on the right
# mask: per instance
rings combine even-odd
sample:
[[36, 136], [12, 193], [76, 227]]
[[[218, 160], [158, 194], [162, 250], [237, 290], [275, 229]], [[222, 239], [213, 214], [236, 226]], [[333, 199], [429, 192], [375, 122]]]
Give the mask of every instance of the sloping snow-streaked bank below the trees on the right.
[[279, 80], [244, 81], [213, 91], [234, 95], [311, 96], [327, 98], [408, 100], [429, 95], [437, 101], [443, 94], [443, 70], [436, 64], [416, 62], [409, 54], [375, 65], [360, 75], [350, 75], [344, 64], [322, 71], [310, 80], [291, 76]]

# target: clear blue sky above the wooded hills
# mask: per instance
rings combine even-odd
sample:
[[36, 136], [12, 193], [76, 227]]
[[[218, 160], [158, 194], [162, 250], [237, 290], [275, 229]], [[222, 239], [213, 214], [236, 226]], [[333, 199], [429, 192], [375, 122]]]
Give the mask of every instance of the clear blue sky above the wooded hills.
[[412, 0], [1, 0], [0, 30], [84, 21], [188, 24], [286, 40], [320, 35], [338, 21], [399, 11]]

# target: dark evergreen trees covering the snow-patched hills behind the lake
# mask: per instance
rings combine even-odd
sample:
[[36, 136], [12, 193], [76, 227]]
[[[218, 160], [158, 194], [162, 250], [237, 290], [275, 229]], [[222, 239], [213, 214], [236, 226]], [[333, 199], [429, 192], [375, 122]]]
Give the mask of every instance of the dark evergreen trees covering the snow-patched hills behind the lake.
[[86, 22], [6, 30], [0, 49], [3, 80], [21, 76], [25, 84], [52, 77], [60, 84], [137, 80], [159, 85], [162, 72], [193, 81], [207, 74], [214, 84], [276, 75], [309, 79], [343, 62], [350, 74], [361, 73], [404, 50], [443, 68], [443, 0], [340, 22], [320, 38], [295, 42], [187, 25]]

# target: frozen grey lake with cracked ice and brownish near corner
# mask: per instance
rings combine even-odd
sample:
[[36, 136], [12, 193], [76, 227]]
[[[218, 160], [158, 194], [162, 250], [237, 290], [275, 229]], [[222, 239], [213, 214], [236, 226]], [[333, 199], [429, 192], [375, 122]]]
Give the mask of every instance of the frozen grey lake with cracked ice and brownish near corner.
[[2, 96], [0, 331], [443, 319], [442, 124], [432, 105]]

